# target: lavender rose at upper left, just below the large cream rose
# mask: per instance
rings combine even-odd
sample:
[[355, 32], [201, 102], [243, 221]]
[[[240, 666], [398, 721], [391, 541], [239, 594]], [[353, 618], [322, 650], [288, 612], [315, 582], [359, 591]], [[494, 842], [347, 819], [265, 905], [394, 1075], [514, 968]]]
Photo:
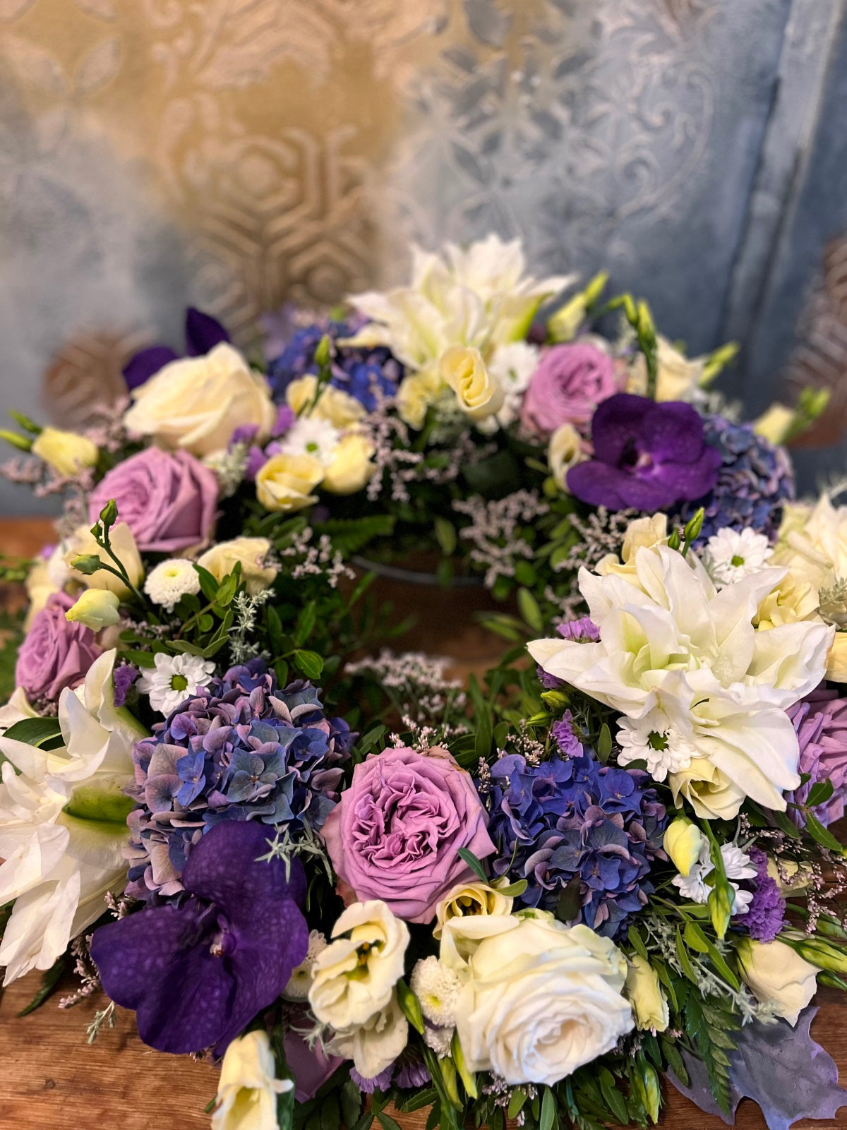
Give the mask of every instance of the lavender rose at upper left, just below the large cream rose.
[[88, 502], [90, 522], [110, 498], [140, 550], [176, 554], [209, 540], [218, 480], [186, 451], [148, 447], [113, 467], [96, 487]]

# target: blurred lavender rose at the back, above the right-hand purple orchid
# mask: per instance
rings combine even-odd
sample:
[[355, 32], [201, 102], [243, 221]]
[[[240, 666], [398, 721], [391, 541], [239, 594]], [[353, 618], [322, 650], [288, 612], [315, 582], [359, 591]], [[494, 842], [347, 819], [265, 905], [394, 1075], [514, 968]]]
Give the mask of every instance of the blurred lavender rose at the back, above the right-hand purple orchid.
[[586, 342], [545, 350], [524, 397], [524, 427], [551, 435], [562, 424], [585, 427], [597, 405], [618, 391], [614, 362]]

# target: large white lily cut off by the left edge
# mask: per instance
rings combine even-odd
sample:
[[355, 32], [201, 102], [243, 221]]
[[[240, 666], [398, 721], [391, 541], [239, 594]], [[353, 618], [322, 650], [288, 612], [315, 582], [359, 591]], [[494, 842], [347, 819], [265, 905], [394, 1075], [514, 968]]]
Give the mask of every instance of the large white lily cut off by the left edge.
[[[132, 746], [146, 731], [114, 705], [114, 651], [59, 699], [63, 746], [0, 738], [0, 905], [15, 902], [0, 946], [5, 984], [49, 970], [126, 879]], [[17, 772], [16, 772], [17, 771]]]

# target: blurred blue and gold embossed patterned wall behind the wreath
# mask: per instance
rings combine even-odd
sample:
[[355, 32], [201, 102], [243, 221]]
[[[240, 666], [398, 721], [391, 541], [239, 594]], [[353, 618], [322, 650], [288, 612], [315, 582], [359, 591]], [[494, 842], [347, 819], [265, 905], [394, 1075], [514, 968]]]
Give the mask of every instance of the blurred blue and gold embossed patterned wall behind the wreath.
[[[405, 246], [521, 235], [845, 470], [846, 0], [0, 0], [0, 406], [72, 425], [186, 303], [248, 344]], [[0, 489], [0, 511], [32, 508]]]

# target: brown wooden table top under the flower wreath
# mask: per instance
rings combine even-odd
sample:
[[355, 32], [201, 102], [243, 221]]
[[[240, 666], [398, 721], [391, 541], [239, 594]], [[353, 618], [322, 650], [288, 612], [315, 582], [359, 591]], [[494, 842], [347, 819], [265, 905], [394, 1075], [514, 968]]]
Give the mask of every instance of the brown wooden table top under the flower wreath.
[[[30, 555], [50, 539], [40, 519], [3, 520], [0, 551]], [[428, 642], [428, 641], [427, 641]], [[407, 646], [412, 646], [411, 641]], [[471, 632], [462, 666], [477, 666], [479, 642]], [[103, 999], [62, 1011], [61, 992], [36, 1012], [18, 1017], [38, 986], [38, 974], [15, 982], [0, 999], [0, 1130], [201, 1130], [203, 1107], [217, 1088], [217, 1071], [187, 1057], [163, 1055], [138, 1038], [131, 1012], [117, 1011], [113, 1029], [103, 1029], [93, 1046], [86, 1027]], [[69, 982], [69, 991], [72, 984]], [[832, 1055], [847, 1086], [847, 997], [832, 990], [818, 994], [820, 1015], [812, 1034]], [[702, 1114], [666, 1088], [661, 1125], [665, 1130], [719, 1130], [719, 1119]], [[763, 1130], [759, 1109], [739, 1107], [741, 1130]], [[830, 1122], [797, 1127], [847, 1128], [847, 1107]]]

